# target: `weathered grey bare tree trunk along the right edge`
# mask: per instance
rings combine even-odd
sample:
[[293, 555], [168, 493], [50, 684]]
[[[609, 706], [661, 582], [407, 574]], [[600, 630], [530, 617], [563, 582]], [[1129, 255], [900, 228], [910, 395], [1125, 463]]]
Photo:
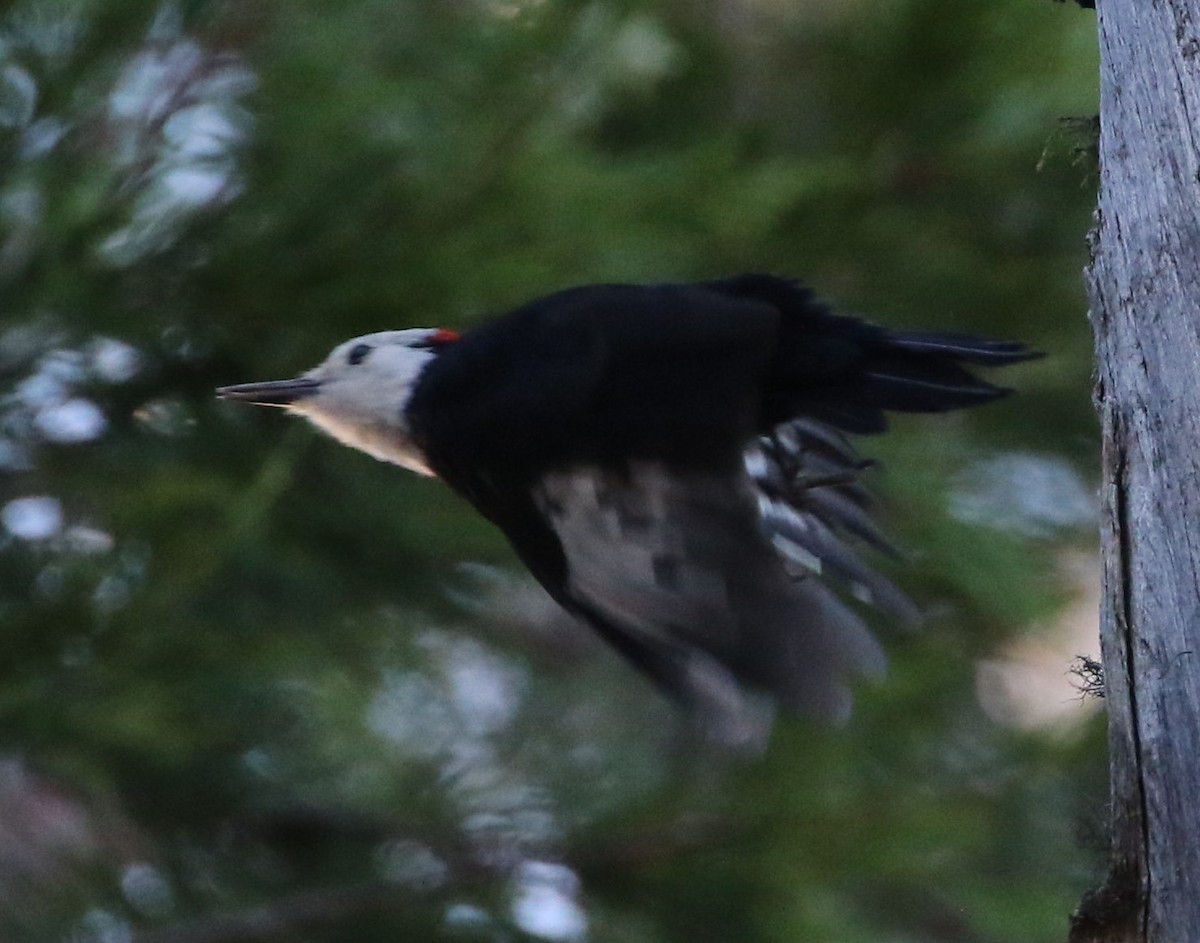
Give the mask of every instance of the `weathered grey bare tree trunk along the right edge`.
[[1100, 0], [1090, 270], [1112, 871], [1073, 943], [1200, 941], [1200, 0]]

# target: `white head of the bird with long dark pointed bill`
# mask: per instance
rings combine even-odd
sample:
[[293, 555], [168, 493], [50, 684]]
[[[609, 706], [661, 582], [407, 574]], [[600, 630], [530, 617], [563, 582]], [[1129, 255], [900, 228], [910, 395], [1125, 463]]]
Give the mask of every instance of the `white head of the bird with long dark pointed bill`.
[[222, 386], [217, 396], [299, 413], [346, 445], [430, 475], [404, 410], [437, 348], [455, 340], [454, 331], [437, 328], [367, 334], [338, 344], [294, 380]]

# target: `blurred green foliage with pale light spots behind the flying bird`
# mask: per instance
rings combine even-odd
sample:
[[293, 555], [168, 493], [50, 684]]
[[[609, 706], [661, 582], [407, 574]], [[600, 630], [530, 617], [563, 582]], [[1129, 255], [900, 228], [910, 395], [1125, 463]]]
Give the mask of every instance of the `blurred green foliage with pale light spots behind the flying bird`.
[[[1048, 0], [7, 4], [4, 938], [1062, 939], [1099, 723], [1001, 726], [974, 666], [1052, 621], [1091, 525], [950, 510], [997, 456], [1092, 474], [1093, 170], [1061, 119], [1094, 112], [1093, 29]], [[846, 729], [784, 719], [762, 758], [530, 627], [436, 482], [211, 395], [745, 270], [1050, 353], [863, 443], [935, 615], [881, 626]]]

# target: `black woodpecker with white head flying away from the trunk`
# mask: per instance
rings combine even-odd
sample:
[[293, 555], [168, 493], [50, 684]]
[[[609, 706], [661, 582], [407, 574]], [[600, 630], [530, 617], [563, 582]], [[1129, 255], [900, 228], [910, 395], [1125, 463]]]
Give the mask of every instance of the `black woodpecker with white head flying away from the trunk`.
[[848, 434], [1009, 390], [966, 367], [1036, 356], [833, 313], [743, 275], [599, 284], [462, 336], [382, 331], [296, 379], [224, 386], [442, 479], [569, 613], [667, 692], [716, 713], [745, 689], [839, 719], [878, 673], [853, 600], [913, 621], [864, 563], [876, 528]]

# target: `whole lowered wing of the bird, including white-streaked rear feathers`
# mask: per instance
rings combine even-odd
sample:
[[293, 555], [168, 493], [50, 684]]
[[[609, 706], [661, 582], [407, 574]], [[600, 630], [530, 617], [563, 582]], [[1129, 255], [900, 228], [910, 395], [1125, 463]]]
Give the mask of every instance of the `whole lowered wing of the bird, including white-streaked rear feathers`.
[[860, 468], [839, 433], [802, 421], [731, 472], [646, 461], [576, 466], [524, 489], [452, 472], [450, 483], [559, 603], [720, 726], [739, 716], [742, 685], [809, 715], [847, 715], [847, 683], [881, 672], [884, 656], [844, 595], [916, 618], [852, 549], [887, 547]]

